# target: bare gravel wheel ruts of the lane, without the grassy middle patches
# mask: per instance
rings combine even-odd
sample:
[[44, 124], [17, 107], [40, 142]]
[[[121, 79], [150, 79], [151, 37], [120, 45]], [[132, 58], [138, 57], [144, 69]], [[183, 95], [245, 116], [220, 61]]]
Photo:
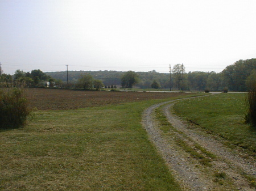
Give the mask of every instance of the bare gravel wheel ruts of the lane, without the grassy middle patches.
[[[187, 99], [191, 99], [191, 97]], [[249, 182], [241, 176], [242, 173], [254, 175], [256, 172], [255, 162], [234, 155], [233, 152], [230, 152], [229, 149], [220, 142], [217, 142], [209, 136], [198, 134], [194, 129], [190, 129], [187, 125], [184, 125], [183, 122], [170, 112], [170, 107], [172, 107], [175, 101], [177, 100], [167, 101], [147, 108], [143, 113], [142, 124], [147, 130], [151, 141], [155, 144], [164, 160], [166, 160], [166, 163], [168, 164], [168, 167], [170, 167], [176, 180], [183, 186], [183, 189], [255, 190], [250, 188]], [[197, 143], [207, 151], [217, 155], [218, 158], [213, 160], [212, 167], [198, 168], [198, 161], [191, 159], [185, 151], [175, 145], [173, 140], [167, 140], [166, 137], [163, 136], [163, 132], [159, 129], [158, 121], [154, 117], [154, 111], [164, 104], [168, 104], [163, 108], [168, 121], [177, 131], [181, 132], [175, 133], [172, 131], [171, 133], [172, 136], [174, 136], [174, 139], [184, 139], [188, 145]], [[210, 173], [207, 173], [210, 170], [214, 172], [218, 169], [221, 169], [221, 171], [224, 171], [225, 174], [228, 175], [227, 179], [229, 179], [229, 182], [232, 182], [232, 185], [230, 185], [229, 188], [221, 186], [219, 182], [214, 181], [214, 177], [210, 175]]]

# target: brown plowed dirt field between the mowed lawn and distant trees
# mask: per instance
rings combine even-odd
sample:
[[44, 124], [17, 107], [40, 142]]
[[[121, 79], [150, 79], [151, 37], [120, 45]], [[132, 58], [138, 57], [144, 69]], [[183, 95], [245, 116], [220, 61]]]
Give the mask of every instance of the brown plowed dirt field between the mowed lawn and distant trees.
[[98, 107], [109, 104], [166, 99], [186, 95], [186, 93], [171, 92], [75, 91], [44, 88], [28, 88], [25, 92], [30, 100], [30, 106], [39, 110]]

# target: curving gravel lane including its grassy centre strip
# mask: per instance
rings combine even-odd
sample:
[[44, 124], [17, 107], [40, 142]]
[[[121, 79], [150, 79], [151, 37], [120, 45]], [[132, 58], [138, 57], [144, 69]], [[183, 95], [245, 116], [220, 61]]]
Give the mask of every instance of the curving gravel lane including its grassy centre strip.
[[[174, 101], [167, 101], [152, 105], [144, 111], [142, 124], [183, 189], [256, 190], [246, 179], [255, 176], [255, 161], [241, 158], [211, 135], [179, 120], [170, 112], [173, 104]], [[160, 130], [155, 117], [155, 109], [162, 105], [172, 125], [168, 132]]]

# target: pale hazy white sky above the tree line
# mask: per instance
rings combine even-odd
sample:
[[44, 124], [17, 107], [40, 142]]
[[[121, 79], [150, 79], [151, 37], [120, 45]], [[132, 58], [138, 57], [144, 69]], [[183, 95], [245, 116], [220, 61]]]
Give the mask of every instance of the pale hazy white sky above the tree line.
[[15, 70], [216, 71], [256, 57], [255, 0], [0, 0], [0, 62]]

